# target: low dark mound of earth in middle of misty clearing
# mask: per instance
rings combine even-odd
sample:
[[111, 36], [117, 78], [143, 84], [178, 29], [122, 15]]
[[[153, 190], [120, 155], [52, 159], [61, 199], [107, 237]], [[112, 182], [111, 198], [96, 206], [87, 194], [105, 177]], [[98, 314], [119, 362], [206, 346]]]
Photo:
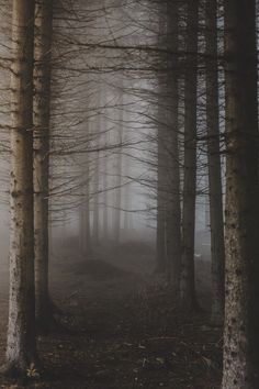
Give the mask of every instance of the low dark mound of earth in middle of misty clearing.
[[71, 266], [71, 270], [77, 276], [85, 275], [100, 280], [111, 280], [130, 275], [128, 271], [125, 271], [102, 259], [87, 259], [76, 263]]

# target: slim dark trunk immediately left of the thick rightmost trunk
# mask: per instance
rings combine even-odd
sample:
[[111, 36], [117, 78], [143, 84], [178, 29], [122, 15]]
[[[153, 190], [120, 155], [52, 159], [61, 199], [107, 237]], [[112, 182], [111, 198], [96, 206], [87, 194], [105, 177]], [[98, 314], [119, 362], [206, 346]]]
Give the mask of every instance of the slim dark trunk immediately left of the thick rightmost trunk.
[[224, 220], [222, 166], [219, 148], [218, 71], [217, 71], [217, 0], [206, 0], [206, 125], [209, 191], [212, 253], [212, 321], [224, 318]]

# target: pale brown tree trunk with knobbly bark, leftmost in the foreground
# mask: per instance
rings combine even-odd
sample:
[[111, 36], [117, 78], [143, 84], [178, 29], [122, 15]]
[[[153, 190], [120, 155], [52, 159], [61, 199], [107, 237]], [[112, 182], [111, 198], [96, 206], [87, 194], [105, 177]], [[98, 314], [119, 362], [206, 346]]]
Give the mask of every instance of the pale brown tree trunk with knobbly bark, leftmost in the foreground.
[[11, 236], [7, 370], [36, 360], [33, 240], [34, 1], [13, 0], [11, 73]]

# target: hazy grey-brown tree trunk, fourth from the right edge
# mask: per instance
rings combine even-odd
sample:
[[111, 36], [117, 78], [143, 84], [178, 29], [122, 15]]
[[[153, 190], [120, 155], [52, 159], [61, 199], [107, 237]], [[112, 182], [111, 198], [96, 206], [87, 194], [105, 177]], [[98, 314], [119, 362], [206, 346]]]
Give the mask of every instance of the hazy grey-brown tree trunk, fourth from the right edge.
[[[179, 3], [167, 3], [167, 45], [172, 53], [178, 51], [178, 23]], [[167, 78], [168, 107], [166, 129], [166, 160], [167, 160], [167, 188], [166, 188], [166, 246], [167, 273], [170, 284], [179, 292], [180, 264], [181, 264], [181, 205], [180, 205], [180, 170], [178, 149], [178, 56], [168, 57], [169, 74]]]

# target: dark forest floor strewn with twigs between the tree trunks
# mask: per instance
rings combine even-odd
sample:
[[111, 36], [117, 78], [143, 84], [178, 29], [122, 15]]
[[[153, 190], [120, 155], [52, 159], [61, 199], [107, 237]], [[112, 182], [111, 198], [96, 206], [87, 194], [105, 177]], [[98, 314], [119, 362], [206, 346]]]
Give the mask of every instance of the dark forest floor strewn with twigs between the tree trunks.
[[[222, 334], [209, 322], [210, 264], [198, 264], [204, 309], [184, 318], [165, 280], [153, 275], [153, 257], [144, 243], [99, 247], [88, 260], [75, 257], [72, 244], [64, 245], [53, 258], [52, 294], [65, 329], [38, 338], [47, 373], [26, 385], [0, 378], [0, 388], [219, 388]], [[8, 311], [4, 271], [0, 363]]]

